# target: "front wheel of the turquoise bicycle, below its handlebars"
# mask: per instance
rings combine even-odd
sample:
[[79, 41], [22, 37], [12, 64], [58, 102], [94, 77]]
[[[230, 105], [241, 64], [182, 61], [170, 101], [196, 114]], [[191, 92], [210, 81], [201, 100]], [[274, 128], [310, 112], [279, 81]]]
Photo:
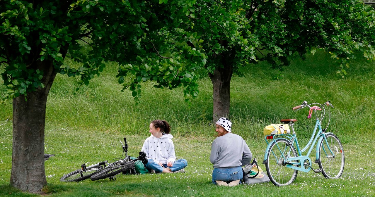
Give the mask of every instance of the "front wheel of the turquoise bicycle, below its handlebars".
[[319, 145], [319, 167], [323, 176], [329, 179], [337, 179], [344, 171], [344, 149], [336, 135], [326, 135], [327, 142], [323, 139]]

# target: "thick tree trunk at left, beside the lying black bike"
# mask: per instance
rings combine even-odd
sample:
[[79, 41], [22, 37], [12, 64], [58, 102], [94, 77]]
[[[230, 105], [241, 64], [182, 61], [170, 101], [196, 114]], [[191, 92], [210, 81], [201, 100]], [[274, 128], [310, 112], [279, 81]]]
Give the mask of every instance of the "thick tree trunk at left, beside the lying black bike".
[[46, 102], [56, 73], [51, 61], [30, 67], [43, 71], [44, 88], [13, 99], [13, 151], [10, 185], [38, 193], [47, 184], [44, 171], [44, 126]]

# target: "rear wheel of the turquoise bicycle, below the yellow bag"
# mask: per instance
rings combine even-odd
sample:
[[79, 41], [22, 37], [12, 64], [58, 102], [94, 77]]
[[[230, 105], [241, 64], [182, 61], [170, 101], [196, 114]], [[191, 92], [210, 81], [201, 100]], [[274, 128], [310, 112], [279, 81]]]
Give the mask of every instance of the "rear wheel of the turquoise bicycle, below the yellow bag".
[[297, 157], [296, 148], [284, 138], [272, 142], [266, 160], [266, 170], [271, 182], [276, 186], [291, 184], [297, 177], [298, 170], [291, 169], [284, 163], [285, 158]]

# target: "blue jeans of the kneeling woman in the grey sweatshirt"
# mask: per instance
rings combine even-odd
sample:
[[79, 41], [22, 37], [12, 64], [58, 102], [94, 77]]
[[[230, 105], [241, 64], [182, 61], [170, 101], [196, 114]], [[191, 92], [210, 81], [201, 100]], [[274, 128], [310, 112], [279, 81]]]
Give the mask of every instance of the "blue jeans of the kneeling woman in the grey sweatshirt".
[[212, 172], [212, 183], [216, 184], [215, 181], [236, 181], [242, 179], [242, 167], [233, 168], [214, 168]]

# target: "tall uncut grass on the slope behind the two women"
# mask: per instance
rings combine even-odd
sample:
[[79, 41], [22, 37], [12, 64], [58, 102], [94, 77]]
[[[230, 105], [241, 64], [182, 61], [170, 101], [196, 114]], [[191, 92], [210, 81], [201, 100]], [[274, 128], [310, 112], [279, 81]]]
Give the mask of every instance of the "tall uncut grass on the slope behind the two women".
[[[66, 59], [71, 67], [78, 65]], [[264, 126], [281, 118], [297, 118], [296, 129], [307, 129], [311, 119], [307, 110], [293, 113], [291, 107], [302, 101], [332, 101], [330, 129], [336, 133], [369, 134], [375, 129], [374, 64], [351, 63], [346, 79], [335, 72], [335, 62], [324, 52], [295, 59], [285, 67], [284, 78], [273, 80], [278, 71], [261, 62], [249, 65], [231, 81], [229, 118], [234, 130], [247, 138], [258, 139]], [[77, 78], [57, 75], [48, 97], [46, 123], [50, 127], [72, 127], [82, 130], [116, 131], [136, 134], [147, 131], [153, 119], [165, 119], [175, 133], [205, 135], [211, 129], [212, 84], [207, 76], [199, 80], [200, 94], [188, 106], [183, 101], [183, 88], [153, 88], [142, 84], [141, 101], [135, 105], [130, 91], [120, 92], [115, 75], [117, 64], [110, 62], [100, 77], [83, 86], [74, 95]], [[0, 107], [0, 120], [12, 118], [12, 105]], [[308, 137], [308, 133], [303, 136]]]

